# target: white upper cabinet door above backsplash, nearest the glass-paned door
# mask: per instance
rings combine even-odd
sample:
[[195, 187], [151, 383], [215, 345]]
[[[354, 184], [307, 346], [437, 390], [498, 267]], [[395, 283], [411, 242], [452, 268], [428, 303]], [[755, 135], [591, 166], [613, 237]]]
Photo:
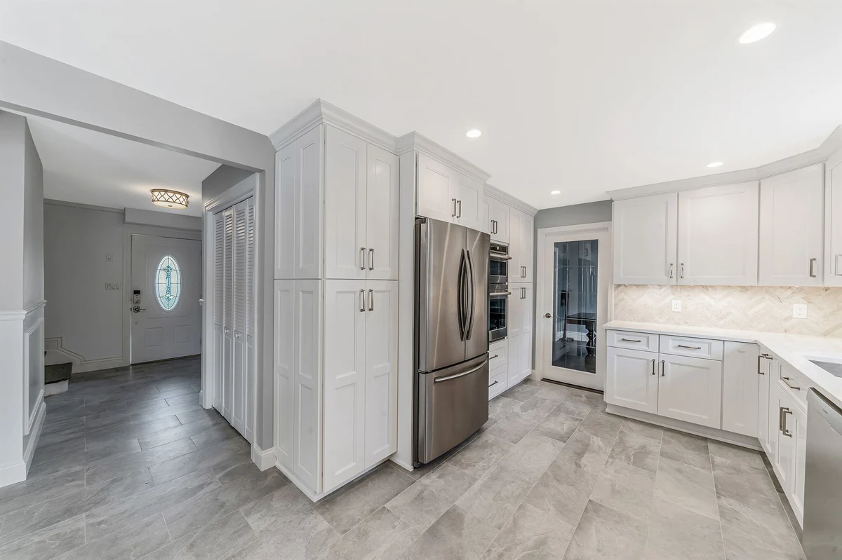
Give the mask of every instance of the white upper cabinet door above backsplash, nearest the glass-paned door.
[[614, 283], [674, 284], [678, 193], [614, 203]]

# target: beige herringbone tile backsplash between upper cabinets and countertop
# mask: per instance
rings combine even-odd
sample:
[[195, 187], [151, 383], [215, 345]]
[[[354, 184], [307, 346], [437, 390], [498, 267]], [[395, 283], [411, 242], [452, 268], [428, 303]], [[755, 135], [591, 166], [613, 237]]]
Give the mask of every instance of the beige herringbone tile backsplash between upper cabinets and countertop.
[[[807, 304], [807, 319], [793, 319], [792, 304]], [[842, 288], [618, 284], [614, 319], [842, 337]]]

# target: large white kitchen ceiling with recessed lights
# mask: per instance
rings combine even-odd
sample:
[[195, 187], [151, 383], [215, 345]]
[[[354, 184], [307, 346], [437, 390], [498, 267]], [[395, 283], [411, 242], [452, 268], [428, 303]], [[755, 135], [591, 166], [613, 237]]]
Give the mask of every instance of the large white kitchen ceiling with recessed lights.
[[[3, 0], [2, 11], [2, 40], [248, 129], [270, 134], [324, 98], [393, 135], [418, 130], [538, 208], [758, 166], [842, 124], [839, 0]], [[778, 29], [736, 44], [762, 21]]]

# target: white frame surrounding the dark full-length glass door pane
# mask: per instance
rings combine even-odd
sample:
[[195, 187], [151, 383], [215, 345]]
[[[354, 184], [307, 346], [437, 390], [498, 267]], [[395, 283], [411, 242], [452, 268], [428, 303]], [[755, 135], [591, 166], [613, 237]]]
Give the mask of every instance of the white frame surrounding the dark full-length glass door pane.
[[[547, 273], [552, 272], [551, 263], [547, 262], [546, 246], [547, 237], [551, 235], [573, 235], [580, 239], [587, 239], [589, 235], [603, 234], [606, 236], [608, 243], [605, 247], [600, 246], [600, 256], [605, 255], [605, 267], [600, 269], [599, 286], [605, 283], [605, 323], [614, 318], [614, 247], [613, 247], [613, 232], [611, 222], [595, 222], [593, 224], [581, 225], [562, 225], [552, 228], [539, 228], [537, 230], [536, 243], [536, 294], [535, 294], [535, 329], [537, 333], [535, 343], [535, 367], [536, 373], [541, 378], [550, 378], [548, 364], [551, 363], [547, 358], [551, 356], [550, 348], [548, 347], [548, 335], [552, 334], [552, 322], [547, 321], [544, 317], [543, 309], [552, 309], [552, 300], [546, 301], [549, 297], [548, 290], [552, 288], [552, 277], [547, 277]], [[599, 293], [599, 288], [597, 293]], [[605, 389], [605, 372], [607, 369], [607, 354], [605, 347], [605, 323], [597, 325], [597, 351], [596, 351], [596, 376], [601, 385], [601, 390]], [[549, 329], [549, 330], [548, 330]], [[565, 369], [565, 368], [560, 368]], [[575, 370], [569, 370], [571, 372]], [[552, 379], [552, 378], [551, 378]]]

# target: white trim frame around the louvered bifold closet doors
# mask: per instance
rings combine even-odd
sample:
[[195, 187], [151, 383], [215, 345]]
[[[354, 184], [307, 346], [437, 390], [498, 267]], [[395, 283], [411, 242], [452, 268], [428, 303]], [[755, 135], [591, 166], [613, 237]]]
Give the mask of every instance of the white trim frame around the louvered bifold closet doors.
[[[202, 278], [202, 299], [200, 299], [200, 307], [202, 311], [201, 317], [201, 330], [202, 330], [202, 390], [199, 393], [199, 402], [205, 409], [212, 409], [213, 408], [213, 398], [214, 398], [214, 378], [213, 374], [215, 371], [216, 364], [214, 363], [214, 357], [216, 356], [215, 353], [215, 340], [213, 335], [213, 309], [214, 309], [214, 283], [216, 280], [216, 275], [214, 274], [216, 270], [216, 236], [214, 235], [214, 216], [221, 212], [224, 209], [227, 209], [233, 206], [236, 203], [240, 203], [247, 198], [254, 197], [254, 285], [252, 289], [254, 290], [254, 297], [252, 301], [254, 303], [254, 309], [250, 309], [252, 312], [252, 317], [254, 319], [254, 355], [253, 355], [253, 363], [254, 363], [254, 375], [253, 375], [253, 385], [248, 388], [251, 392], [251, 403], [252, 409], [248, 410], [248, 417], [246, 418], [246, 426], [245, 431], [248, 435], [252, 438], [255, 435], [255, 428], [256, 425], [256, 416], [255, 413], [258, 409], [258, 392], [257, 392], [257, 383], [258, 383], [258, 332], [260, 332], [260, 324], [258, 322], [258, 293], [261, 293], [263, 289], [262, 285], [262, 278], [258, 275], [258, 259], [260, 258], [258, 254], [258, 246], [259, 246], [259, 236], [260, 236], [260, 228], [262, 225], [260, 224], [260, 208], [258, 203], [258, 197], [255, 196], [257, 194], [257, 187], [258, 187], [258, 173], [253, 173], [249, 175], [241, 182], [238, 182], [232, 188], [229, 188], [224, 193], [221, 193], [216, 198], [210, 199], [208, 202], [205, 203], [205, 211], [202, 214], [202, 266], [204, 267], [203, 278]], [[248, 402], [248, 399], [247, 399]]]

